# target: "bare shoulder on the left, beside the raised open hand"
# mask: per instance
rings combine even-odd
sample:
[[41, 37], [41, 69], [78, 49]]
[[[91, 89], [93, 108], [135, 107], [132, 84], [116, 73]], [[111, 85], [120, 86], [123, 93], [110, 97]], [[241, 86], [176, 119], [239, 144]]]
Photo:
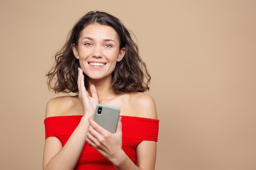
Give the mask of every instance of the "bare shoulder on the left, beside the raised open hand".
[[45, 109], [45, 118], [53, 116], [83, 114], [80, 100], [76, 96], [62, 96], [50, 99]]

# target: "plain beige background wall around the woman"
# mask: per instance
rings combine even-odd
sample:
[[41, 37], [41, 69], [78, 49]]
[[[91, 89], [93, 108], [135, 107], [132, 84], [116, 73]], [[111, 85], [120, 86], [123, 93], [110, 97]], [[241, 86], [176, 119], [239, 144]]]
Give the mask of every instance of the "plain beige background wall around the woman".
[[156, 170], [256, 169], [255, 0], [1, 0], [0, 169], [40, 170], [45, 73], [90, 10], [135, 33], [157, 104]]

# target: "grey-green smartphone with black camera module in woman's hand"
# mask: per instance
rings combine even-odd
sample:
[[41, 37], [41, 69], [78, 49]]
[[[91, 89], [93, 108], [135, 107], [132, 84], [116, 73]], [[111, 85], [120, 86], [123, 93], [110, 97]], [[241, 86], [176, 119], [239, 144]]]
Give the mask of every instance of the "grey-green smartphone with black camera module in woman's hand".
[[93, 120], [109, 132], [115, 133], [117, 130], [119, 115], [120, 109], [118, 107], [98, 104], [96, 106]]

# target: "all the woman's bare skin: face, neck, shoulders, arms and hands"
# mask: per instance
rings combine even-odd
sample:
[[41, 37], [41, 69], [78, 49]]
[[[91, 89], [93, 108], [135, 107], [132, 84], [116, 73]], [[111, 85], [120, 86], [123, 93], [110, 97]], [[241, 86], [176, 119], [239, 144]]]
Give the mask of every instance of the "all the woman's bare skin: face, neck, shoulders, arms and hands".
[[[111, 73], [122, 60], [125, 49], [119, 49], [119, 37], [106, 25], [90, 24], [81, 32], [78, 46], [72, 47], [79, 59], [78, 96], [56, 97], [47, 103], [46, 116], [83, 115], [65, 146], [56, 137], [45, 140], [44, 170], [73, 170], [85, 141], [106, 157], [117, 170], [154, 170], [156, 142], [142, 141], [137, 146], [137, 165], [122, 150], [121, 117], [117, 132], [112, 134], [93, 121], [98, 103], [119, 107], [120, 115], [157, 119], [155, 102], [145, 93], [116, 95], [110, 93]], [[90, 63], [103, 63], [92, 66]], [[85, 89], [83, 73], [88, 75], [90, 88]]]

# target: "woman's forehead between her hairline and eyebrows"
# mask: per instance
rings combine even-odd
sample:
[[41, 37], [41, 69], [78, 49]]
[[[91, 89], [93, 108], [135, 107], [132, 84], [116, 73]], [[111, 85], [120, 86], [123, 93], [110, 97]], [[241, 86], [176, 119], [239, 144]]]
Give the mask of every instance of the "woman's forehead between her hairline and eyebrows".
[[104, 40], [104, 39], [113, 39], [119, 41], [119, 36], [115, 29], [108, 25], [102, 24], [88, 24], [81, 31], [80, 38], [90, 37], [93, 39]]

